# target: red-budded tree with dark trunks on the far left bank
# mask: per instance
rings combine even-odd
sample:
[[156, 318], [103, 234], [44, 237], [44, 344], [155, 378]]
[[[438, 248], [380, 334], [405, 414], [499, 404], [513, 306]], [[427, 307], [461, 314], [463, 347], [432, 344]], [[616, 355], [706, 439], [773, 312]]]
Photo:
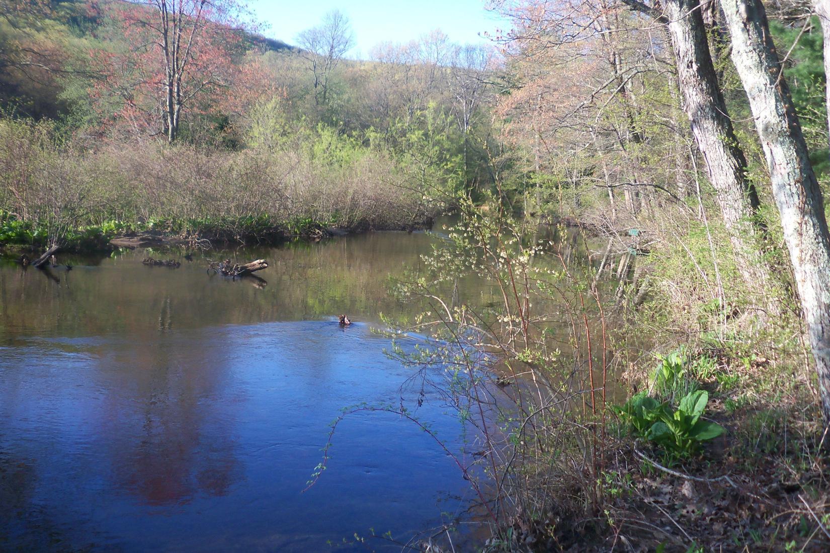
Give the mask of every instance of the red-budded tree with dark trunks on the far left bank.
[[229, 83], [240, 11], [236, 0], [123, 0], [110, 15], [129, 44], [100, 52], [108, 78], [96, 90], [115, 90], [123, 119], [173, 143], [183, 112]]

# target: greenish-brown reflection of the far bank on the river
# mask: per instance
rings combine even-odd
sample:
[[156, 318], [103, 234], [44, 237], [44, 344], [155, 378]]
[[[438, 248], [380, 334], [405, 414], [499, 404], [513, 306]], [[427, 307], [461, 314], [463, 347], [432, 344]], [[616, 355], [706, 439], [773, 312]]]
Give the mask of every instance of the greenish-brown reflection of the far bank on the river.
[[[559, 235], [540, 226], [525, 240], [543, 238], [560, 240], [568, 258], [586, 255], [583, 241], [572, 230]], [[172, 321], [168, 303], [175, 304], [178, 329], [325, 318], [338, 313], [363, 321], [377, 321], [378, 313], [397, 318], [414, 314], [418, 308], [398, 303], [388, 293], [389, 277], [402, 277], [406, 270], [425, 270], [419, 255], [437, 241], [417, 233], [379, 232], [318, 244], [193, 254], [193, 261], [180, 269], [144, 267], [144, 252], [136, 250], [103, 260], [100, 268], [73, 259], [76, 268], [71, 271], [71, 290], [33, 274], [38, 271], [26, 274], [19, 266], [3, 264], [0, 324], [13, 327], [25, 320], [41, 332], [70, 336], [168, 330]], [[168, 256], [181, 257], [176, 252]], [[221, 276], [211, 278], [203, 270], [206, 257], [227, 257], [235, 262], [264, 258], [271, 266], [256, 276], [266, 279], [267, 286], [256, 279], [233, 282]], [[59, 276], [63, 278], [63, 274]], [[461, 278], [453, 290], [455, 284], [450, 283], [446, 291], [455, 304], [469, 303], [476, 308], [499, 300], [488, 284], [476, 279]]]

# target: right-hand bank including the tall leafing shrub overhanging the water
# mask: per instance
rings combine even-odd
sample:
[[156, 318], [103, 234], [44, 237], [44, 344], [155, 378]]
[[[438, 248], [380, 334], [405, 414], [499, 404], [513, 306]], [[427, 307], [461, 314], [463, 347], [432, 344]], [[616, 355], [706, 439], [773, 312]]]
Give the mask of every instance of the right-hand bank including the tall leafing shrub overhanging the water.
[[[403, 361], [446, 366], [418, 377], [475, 427], [457, 463], [487, 497], [485, 551], [827, 551], [830, 458], [798, 313], [782, 301], [759, 323], [749, 298], [715, 303], [704, 266], [676, 273], [680, 254], [653, 245], [636, 303], [634, 266], [586, 260], [595, 237], [529, 230], [468, 206], [434, 274], [397, 288], [423, 308], [400, 327], [437, 338]], [[453, 303], [471, 270], [503, 301]]]

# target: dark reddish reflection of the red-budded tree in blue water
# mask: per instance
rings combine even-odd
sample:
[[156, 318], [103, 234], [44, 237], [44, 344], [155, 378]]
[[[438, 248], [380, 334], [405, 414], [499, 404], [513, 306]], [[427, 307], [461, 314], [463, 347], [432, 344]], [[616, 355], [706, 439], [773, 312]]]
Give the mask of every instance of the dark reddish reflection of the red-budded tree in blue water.
[[[164, 309], [173, 305], [164, 303]], [[168, 336], [139, 339], [101, 369], [114, 378], [106, 385], [101, 439], [115, 486], [151, 505], [224, 495], [239, 475], [226, 422], [234, 419], [226, 412], [233, 403], [220, 400], [227, 364], [207, 358], [210, 348], [192, 337]]]

